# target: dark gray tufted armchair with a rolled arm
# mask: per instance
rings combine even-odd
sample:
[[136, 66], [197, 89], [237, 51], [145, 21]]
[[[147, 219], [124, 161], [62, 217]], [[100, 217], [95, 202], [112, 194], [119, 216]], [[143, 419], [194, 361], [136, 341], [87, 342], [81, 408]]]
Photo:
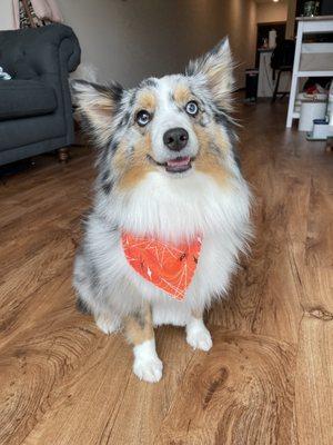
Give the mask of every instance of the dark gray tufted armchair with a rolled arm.
[[80, 44], [63, 24], [0, 31], [0, 165], [73, 144], [68, 76]]

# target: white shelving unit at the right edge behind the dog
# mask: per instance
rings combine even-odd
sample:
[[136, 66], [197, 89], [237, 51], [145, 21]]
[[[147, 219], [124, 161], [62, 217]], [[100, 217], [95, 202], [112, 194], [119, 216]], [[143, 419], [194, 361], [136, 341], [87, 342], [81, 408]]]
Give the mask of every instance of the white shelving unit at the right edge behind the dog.
[[[295, 48], [295, 58], [293, 66], [293, 76], [292, 76], [292, 85], [289, 98], [289, 107], [287, 107], [287, 117], [286, 117], [286, 127], [291, 128], [293, 123], [293, 119], [300, 118], [300, 112], [294, 110], [295, 107], [295, 98], [299, 91], [299, 79], [302, 77], [333, 77], [333, 62], [332, 68], [330, 69], [311, 69], [311, 70], [301, 70], [301, 58], [302, 58], [302, 49], [303, 46], [306, 44], [306, 55], [309, 55], [313, 47], [313, 55], [320, 53], [320, 46], [317, 43], [311, 46], [309, 43], [303, 43], [303, 36], [307, 33], [320, 33], [320, 32], [333, 32], [333, 16], [319, 16], [319, 17], [299, 17], [296, 19], [299, 21], [297, 27], [297, 37], [296, 37], [296, 48]], [[332, 46], [329, 46], [330, 53], [333, 53]]]

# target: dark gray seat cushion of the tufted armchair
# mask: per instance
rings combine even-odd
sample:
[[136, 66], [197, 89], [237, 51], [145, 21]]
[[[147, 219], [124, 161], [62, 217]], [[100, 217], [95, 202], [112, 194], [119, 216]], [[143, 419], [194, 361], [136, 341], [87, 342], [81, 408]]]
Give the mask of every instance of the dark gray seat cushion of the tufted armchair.
[[57, 108], [53, 88], [36, 80], [0, 82], [0, 120], [41, 116]]

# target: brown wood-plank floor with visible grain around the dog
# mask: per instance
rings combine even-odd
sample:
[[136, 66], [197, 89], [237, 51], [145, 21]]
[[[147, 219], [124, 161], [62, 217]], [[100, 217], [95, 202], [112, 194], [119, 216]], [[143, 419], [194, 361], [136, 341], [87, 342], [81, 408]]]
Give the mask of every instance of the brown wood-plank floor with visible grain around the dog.
[[89, 150], [0, 185], [0, 444], [333, 444], [333, 156], [284, 129], [283, 103], [242, 119], [252, 254], [208, 315], [209, 354], [158, 329], [155, 385], [133, 376], [121, 336], [75, 312]]

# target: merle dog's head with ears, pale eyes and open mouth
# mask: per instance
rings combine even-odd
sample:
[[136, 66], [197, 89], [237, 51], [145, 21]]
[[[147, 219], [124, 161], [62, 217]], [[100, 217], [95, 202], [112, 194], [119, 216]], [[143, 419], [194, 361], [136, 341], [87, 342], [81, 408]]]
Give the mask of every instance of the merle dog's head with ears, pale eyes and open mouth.
[[223, 181], [233, 160], [232, 86], [228, 40], [185, 75], [150, 78], [135, 89], [75, 81], [79, 112], [102, 148], [102, 189], [133, 188], [151, 171], [172, 178], [201, 171]]

